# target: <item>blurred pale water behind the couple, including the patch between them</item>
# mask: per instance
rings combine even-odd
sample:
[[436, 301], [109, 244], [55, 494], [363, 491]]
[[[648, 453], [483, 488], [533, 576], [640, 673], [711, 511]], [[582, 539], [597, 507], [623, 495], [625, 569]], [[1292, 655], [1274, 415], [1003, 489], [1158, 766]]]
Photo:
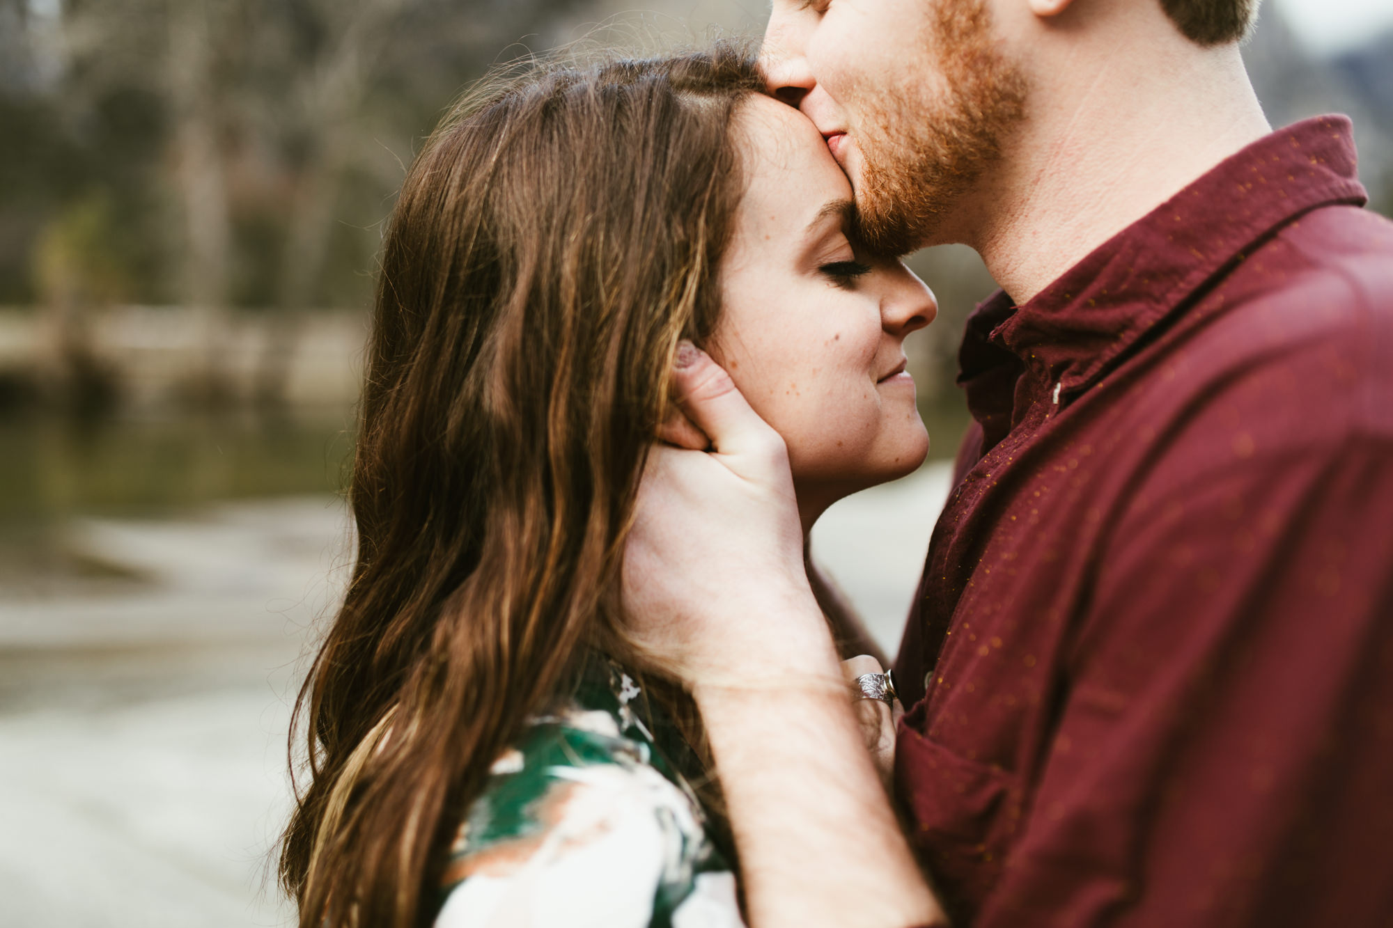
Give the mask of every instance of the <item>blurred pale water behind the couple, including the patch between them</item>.
[[[344, 415], [0, 425], [0, 928], [287, 924], [286, 730], [351, 536]], [[893, 651], [946, 464], [814, 552]]]

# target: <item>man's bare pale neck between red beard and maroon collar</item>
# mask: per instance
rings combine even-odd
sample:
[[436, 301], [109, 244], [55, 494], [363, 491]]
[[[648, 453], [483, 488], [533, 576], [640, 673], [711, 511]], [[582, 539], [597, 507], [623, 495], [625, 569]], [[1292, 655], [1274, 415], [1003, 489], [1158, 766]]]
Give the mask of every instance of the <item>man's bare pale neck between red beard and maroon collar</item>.
[[[1010, 156], [964, 202], [958, 230], [1017, 304], [1270, 132], [1236, 47], [1177, 47], [1139, 68], [1080, 56], [1036, 99]], [[1050, 99], [1052, 98], [1052, 99]], [[1067, 105], [1064, 103], [1067, 102]]]

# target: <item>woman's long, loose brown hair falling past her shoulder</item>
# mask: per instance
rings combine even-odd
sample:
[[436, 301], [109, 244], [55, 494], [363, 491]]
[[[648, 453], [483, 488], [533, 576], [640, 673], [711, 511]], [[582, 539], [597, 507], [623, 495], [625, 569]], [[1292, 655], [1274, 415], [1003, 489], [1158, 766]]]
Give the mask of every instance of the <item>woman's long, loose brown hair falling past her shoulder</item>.
[[297, 699], [299, 924], [408, 928], [493, 758], [588, 648], [624, 658], [621, 550], [678, 339], [710, 334], [741, 195], [737, 46], [535, 67], [407, 174], [350, 500], [358, 559]]

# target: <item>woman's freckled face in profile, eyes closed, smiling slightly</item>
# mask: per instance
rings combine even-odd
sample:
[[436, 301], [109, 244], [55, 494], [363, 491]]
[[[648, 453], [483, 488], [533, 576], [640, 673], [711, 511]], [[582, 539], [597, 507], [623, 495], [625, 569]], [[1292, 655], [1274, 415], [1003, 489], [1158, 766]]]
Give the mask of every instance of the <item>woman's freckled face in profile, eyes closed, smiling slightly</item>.
[[[898, 261], [853, 251], [840, 229], [809, 235], [851, 185], [797, 110], [752, 98], [738, 116], [748, 188], [722, 263], [712, 355], [788, 446], [800, 509], [814, 517], [858, 489], [903, 477], [928, 454], [914, 383], [886, 376], [904, 339], [937, 312]], [[809, 242], [815, 242], [809, 245]], [[823, 265], [861, 261], [851, 281]]]

